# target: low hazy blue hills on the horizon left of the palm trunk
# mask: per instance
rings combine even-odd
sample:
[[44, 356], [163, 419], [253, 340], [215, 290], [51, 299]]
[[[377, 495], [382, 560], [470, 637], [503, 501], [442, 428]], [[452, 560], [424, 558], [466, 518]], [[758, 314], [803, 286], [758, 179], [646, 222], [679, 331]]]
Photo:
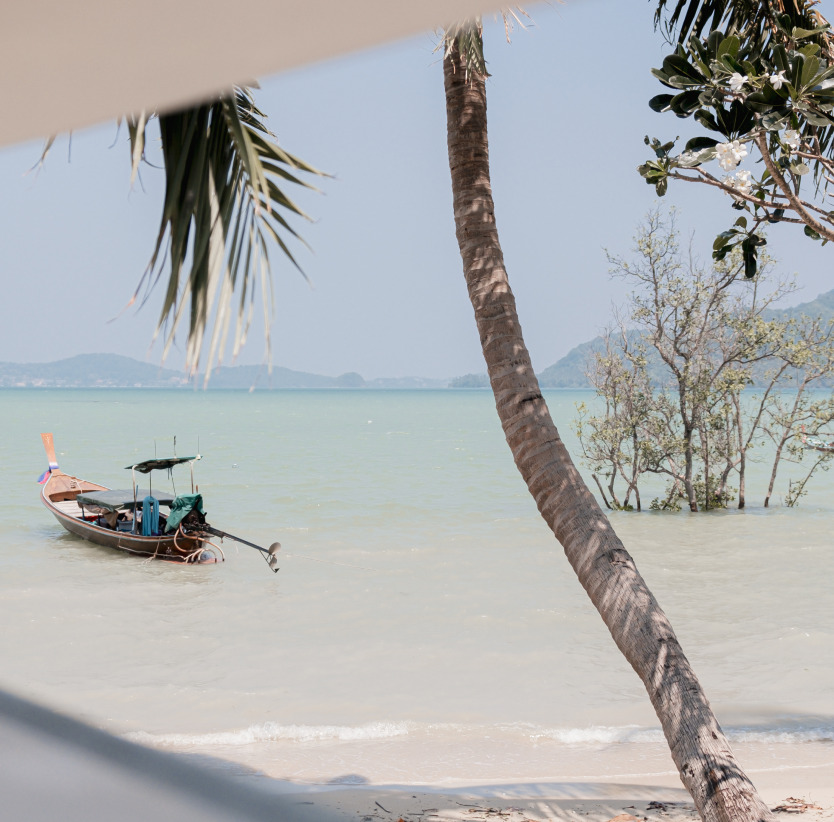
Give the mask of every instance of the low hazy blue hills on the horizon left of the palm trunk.
[[[391, 377], [366, 381], [350, 372], [325, 377], [275, 366], [221, 366], [211, 375], [209, 389], [259, 390], [287, 388], [445, 388], [448, 380]], [[82, 354], [49, 363], [0, 362], [0, 388], [193, 388], [203, 378], [189, 380], [182, 371], [140, 362], [118, 354]]]

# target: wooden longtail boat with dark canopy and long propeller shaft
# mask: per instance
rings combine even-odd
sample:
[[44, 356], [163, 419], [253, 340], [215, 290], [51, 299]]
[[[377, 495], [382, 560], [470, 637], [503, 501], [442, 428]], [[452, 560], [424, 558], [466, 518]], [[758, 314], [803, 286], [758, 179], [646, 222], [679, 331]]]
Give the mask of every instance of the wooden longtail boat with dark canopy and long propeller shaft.
[[[193, 457], [163, 457], [128, 465], [132, 487], [112, 489], [71, 474], [64, 473], [55, 459], [52, 434], [41, 434], [49, 467], [38, 482], [43, 485], [41, 502], [58, 522], [71, 534], [82, 539], [115, 548], [135, 556], [204, 565], [222, 562], [223, 550], [210, 537], [216, 536], [248, 545], [260, 551], [273, 571], [277, 571], [275, 554], [278, 542], [268, 549], [261, 548], [233, 534], [220, 531], [206, 522], [203, 499], [195, 493]], [[140, 492], [136, 472], [150, 475], [152, 471], [170, 472], [175, 466], [191, 466], [191, 493], [175, 496], [154, 490]], [[167, 508], [163, 512], [162, 508]]]

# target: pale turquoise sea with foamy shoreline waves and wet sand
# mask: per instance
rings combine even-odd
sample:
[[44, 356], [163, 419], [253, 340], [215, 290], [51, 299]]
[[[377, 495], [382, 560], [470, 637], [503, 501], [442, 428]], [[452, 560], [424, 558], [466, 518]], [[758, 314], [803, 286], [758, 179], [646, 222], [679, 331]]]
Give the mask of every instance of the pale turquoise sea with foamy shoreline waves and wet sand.
[[[592, 395], [546, 398], [577, 453]], [[674, 772], [489, 391], [8, 389], [0, 419], [0, 688], [296, 785]], [[39, 500], [46, 431], [63, 470], [110, 487], [201, 454], [210, 522], [279, 541], [280, 570], [229, 539], [185, 567], [65, 533]], [[834, 480], [788, 508], [785, 470], [764, 509], [758, 458], [744, 511], [609, 513], [754, 781], [834, 767]]]

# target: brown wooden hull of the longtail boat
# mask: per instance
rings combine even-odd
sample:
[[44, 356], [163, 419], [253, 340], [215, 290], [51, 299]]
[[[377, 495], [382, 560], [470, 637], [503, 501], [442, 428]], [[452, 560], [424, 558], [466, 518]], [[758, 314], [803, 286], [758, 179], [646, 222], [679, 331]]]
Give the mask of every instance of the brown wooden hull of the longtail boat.
[[196, 537], [183, 536], [182, 533], [145, 537], [141, 534], [104, 528], [92, 519], [84, 518], [76, 497], [82, 493], [105, 490], [107, 488], [104, 485], [96, 485], [65, 474], [60, 469], [53, 469], [43, 486], [41, 502], [67, 531], [96, 545], [114, 548], [134, 556], [190, 565], [218, 562], [212, 551], [203, 550], [205, 541]]

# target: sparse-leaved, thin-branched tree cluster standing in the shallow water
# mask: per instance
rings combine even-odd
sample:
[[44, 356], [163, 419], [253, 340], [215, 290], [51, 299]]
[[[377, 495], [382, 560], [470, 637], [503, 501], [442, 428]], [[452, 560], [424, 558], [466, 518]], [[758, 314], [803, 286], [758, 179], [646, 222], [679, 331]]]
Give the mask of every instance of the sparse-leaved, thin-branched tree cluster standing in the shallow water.
[[[834, 404], [809, 393], [834, 373], [834, 323], [773, 314], [792, 289], [769, 281], [766, 256], [749, 281], [739, 250], [711, 267], [682, 254], [674, 215], [667, 223], [651, 212], [635, 239], [633, 259], [609, 257], [612, 273], [634, 290], [616, 333], [589, 363], [602, 407], [595, 415], [579, 409], [585, 460], [595, 479], [607, 478], [614, 507], [629, 507], [617, 504], [617, 485], [625, 483], [626, 502], [631, 494], [639, 500], [641, 478], [655, 474], [668, 486], [653, 508], [677, 510], [679, 500], [690, 511], [726, 507], [731, 480], [744, 508], [748, 453], [770, 438], [767, 506], [780, 461], [801, 458], [803, 426], [816, 433], [834, 419]], [[789, 493], [786, 501], [796, 499]]]

